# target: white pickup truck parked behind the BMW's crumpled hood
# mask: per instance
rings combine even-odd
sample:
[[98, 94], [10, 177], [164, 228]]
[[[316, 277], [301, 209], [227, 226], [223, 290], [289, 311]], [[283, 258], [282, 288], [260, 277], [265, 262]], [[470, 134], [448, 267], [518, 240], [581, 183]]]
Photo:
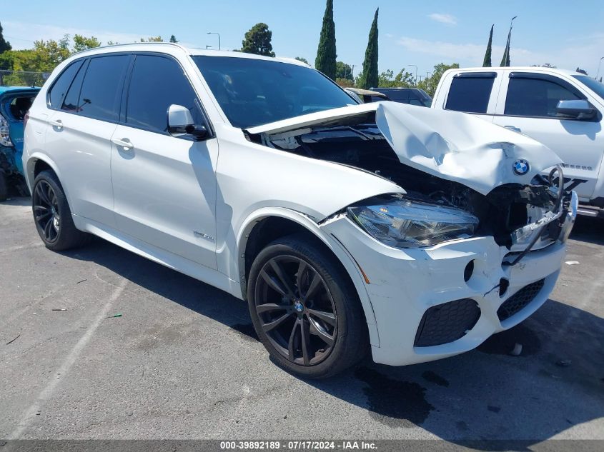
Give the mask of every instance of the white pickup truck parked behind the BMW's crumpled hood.
[[542, 142], [564, 161], [578, 213], [604, 218], [604, 84], [545, 67], [450, 69], [432, 108], [474, 114]]

